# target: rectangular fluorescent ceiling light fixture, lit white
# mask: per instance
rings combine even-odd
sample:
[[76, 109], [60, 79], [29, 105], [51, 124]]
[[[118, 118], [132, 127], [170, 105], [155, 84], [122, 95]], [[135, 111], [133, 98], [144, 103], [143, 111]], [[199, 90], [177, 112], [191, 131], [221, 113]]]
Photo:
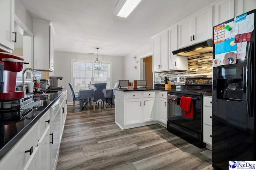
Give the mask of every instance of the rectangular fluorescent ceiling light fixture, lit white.
[[141, 0], [118, 0], [113, 13], [116, 16], [127, 18]]

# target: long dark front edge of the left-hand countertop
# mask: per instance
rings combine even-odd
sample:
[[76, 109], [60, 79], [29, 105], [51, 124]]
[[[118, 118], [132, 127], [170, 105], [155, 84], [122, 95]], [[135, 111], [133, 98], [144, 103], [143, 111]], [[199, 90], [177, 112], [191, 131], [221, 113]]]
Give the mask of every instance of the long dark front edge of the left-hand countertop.
[[[10, 140], [6, 145], [0, 150], [0, 160], [4, 158], [4, 156], [18, 143], [18, 141], [29, 131], [29, 129], [44, 115], [44, 113], [50, 109], [50, 107], [60, 98], [60, 96], [63, 94], [63, 92], [66, 90], [63, 89], [62, 91], [57, 92], [58, 97], [55, 98], [47, 107], [45, 107], [40, 114], [38, 114], [34, 119], [24, 127], [17, 135], [13, 137], [12, 140]], [[61, 92], [61, 93], [60, 93]]]

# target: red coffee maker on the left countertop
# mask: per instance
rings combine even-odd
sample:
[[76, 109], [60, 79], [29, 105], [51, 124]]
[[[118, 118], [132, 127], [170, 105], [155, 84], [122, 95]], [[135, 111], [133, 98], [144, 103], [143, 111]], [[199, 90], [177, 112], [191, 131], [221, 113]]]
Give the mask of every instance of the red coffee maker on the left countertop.
[[0, 100], [24, 98], [24, 91], [15, 91], [17, 72], [22, 71], [24, 64], [29, 63], [20, 57], [0, 53]]

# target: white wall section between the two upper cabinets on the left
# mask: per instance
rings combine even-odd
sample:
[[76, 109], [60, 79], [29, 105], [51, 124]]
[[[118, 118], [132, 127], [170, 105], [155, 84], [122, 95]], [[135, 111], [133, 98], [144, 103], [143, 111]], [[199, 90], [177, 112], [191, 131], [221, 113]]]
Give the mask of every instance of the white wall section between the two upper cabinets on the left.
[[20, 0], [15, 0], [15, 15], [28, 27], [28, 29], [33, 32], [32, 18], [29, 15], [26, 8], [20, 2]]

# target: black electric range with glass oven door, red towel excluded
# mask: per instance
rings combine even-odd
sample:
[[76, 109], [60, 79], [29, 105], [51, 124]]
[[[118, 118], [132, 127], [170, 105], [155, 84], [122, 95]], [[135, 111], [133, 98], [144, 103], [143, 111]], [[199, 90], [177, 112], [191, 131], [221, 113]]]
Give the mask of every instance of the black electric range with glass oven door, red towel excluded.
[[[168, 91], [176, 101], [168, 98], [167, 129], [182, 139], [203, 148], [203, 95], [212, 94], [212, 78], [186, 78], [185, 86]], [[180, 107], [182, 97], [192, 100], [192, 116]]]

